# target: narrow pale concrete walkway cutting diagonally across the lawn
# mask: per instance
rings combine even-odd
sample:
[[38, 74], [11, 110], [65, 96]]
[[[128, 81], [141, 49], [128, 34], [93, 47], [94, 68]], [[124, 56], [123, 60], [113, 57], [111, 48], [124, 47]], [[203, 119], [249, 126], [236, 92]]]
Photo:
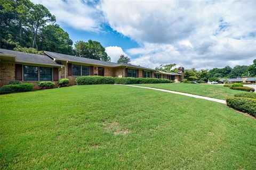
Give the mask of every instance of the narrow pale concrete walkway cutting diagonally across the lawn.
[[134, 86], [134, 85], [127, 85], [127, 84], [117, 84], [117, 85], [131, 86], [131, 87], [137, 87], [137, 88], [143, 88], [143, 89], [151, 89], [151, 90], [170, 92], [171, 94], [178, 94], [178, 95], [189, 96], [189, 97], [205, 99], [205, 100], [210, 100], [210, 101], [215, 101], [215, 102], [218, 102], [218, 103], [226, 104], [226, 100], [214, 99], [214, 98], [211, 98], [211, 97], [204, 97], [204, 96], [198, 96], [198, 95], [191, 95], [191, 94], [186, 94], [185, 92], [178, 92], [178, 91], [171, 91], [171, 90], [164, 90], [164, 89], [156, 89], [156, 88], [151, 88], [151, 87]]

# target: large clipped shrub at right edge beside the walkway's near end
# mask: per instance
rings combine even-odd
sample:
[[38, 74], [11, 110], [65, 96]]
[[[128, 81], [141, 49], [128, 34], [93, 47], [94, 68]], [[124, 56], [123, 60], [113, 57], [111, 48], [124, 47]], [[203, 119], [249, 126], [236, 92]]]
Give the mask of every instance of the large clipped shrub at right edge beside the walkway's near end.
[[252, 98], [227, 98], [227, 105], [238, 111], [246, 112], [256, 117], [256, 99]]

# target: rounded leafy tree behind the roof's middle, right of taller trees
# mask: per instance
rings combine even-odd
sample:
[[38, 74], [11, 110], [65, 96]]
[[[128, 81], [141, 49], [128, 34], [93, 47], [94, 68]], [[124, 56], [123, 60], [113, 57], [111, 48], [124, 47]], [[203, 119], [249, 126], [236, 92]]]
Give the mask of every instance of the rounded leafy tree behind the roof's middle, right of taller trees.
[[79, 57], [107, 62], [110, 61], [110, 57], [105, 52], [105, 48], [98, 41], [77, 41], [75, 43], [75, 54]]

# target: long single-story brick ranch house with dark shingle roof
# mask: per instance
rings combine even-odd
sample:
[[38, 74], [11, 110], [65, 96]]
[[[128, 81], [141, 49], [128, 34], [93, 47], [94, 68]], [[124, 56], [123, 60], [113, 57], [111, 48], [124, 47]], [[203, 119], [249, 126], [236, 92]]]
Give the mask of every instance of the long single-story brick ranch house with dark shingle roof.
[[53, 52], [43, 55], [0, 49], [0, 87], [9, 81], [22, 82], [54, 81], [68, 78], [70, 84], [82, 75], [111, 77], [158, 78], [179, 82], [184, 77], [184, 68], [179, 73], [166, 73], [132, 64], [104, 62], [90, 58]]

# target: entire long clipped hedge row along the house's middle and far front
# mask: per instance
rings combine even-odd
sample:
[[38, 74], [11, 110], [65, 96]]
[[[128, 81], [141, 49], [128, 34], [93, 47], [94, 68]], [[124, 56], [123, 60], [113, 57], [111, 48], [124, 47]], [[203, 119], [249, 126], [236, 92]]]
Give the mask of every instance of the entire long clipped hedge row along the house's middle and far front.
[[101, 76], [82, 76], [76, 79], [77, 85], [85, 84], [146, 84], [146, 83], [172, 83], [174, 81], [157, 78], [113, 78]]

